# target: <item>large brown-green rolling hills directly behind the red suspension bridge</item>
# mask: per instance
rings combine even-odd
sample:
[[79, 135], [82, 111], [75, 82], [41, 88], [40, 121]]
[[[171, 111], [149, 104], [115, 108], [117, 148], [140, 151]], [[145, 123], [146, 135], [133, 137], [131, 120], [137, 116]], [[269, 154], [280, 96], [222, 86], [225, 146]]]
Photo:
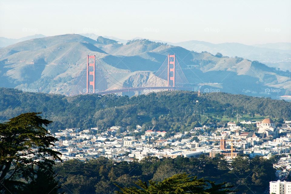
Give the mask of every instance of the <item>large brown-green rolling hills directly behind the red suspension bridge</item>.
[[124, 86], [136, 87], [149, 78], [163, 85], [155, 78], [154, 72], [169, 53], [176, 54], [194, 90], [201, 87], [204, 92], [215, 89], [272, 97], [288, 95], [291, 90], [290, 72], [258, 61], [199, 53], [146, 39], [120, 44], [101, 36], [93, 40], [77, 34], [35, 38], [0, 49], [0, 87], [67, 94], [87, 55], [96, 55], [107, 71]]

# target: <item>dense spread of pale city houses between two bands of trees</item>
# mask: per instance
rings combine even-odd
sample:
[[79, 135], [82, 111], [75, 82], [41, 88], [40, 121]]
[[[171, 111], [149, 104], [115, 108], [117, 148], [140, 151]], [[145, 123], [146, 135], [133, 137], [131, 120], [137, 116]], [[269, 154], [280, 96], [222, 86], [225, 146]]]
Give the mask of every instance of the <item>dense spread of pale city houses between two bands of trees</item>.
[[[215, 132], [209, 132], [209, 126], [203, 126], [171, 136], [164, 130], [143, 130], [139, 125], [131, 131], [121, 126], [112, 126], [103, 132], [97, 128], [73, 128], [56, 132], [54, 136], [59, 141], [52, 149], [62, 153], [62, 160], [82, 161], [100, 156], [132, 161], [147, 156], [176, 158], [201, 154], [209, 154], [210, 157], [220, 154], [231, 161], [239, 154], [270, 158], [283, 153], [287, 157], [290, 153], [291, 122], [279, 128], [275, 127], [272, 119], [264, 119], [262, 122], [243, 121], [241, 124], [256, 124], [259, 129], [257, 132], [246, 132], [244, 127], [237, 126], [235, 122], [228, 122], [226, 127], [216, 128]], [[286, 135], [279, 138], [281, 132]], [[136, 133], [142, 135], [136, 136]], [[287, 166], [280, 168], [289, 171]]]

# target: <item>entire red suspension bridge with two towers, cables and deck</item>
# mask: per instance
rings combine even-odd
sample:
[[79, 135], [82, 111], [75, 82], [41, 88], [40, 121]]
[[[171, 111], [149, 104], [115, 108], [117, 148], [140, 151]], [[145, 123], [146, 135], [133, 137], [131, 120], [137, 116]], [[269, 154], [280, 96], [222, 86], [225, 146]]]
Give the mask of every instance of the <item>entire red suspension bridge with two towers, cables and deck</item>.
[[[157, 83], [159, 80], [159, 83]], [[161, 84], [162, 83], [162, 84]], [[87, 62], [72, 80], [68, 95], [111, 94], [142, 90], [192, 90], [176, 55], [168, 54], [161, 67], [138, 87], [129, 87], [115, 79], [95, 55], [87, 55]]]

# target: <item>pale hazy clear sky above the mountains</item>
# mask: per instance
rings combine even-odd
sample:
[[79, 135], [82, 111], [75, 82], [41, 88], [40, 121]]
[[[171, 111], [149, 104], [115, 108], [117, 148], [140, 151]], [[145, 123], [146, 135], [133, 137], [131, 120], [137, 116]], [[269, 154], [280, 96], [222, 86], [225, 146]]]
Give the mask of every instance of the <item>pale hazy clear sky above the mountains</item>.
[[290, 0], [0, 0], [0, 36], [95, 33], [181, 42], [291, 42]]

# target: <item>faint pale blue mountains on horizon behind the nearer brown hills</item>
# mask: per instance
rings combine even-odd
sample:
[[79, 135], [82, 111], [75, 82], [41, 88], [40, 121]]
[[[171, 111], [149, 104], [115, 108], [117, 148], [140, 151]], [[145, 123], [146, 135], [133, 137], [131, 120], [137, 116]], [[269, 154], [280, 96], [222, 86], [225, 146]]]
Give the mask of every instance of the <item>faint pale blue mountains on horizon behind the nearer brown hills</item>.
[[[93, 33], [80, 34], [87, 38], [97, 40], [99, 35]], [[22, 42], [32, 38], [43, 38], [45, 35], [36, 34], [33, 36], [27, 36], [19, 39], [11, 39], [0, 37], [0, 47], [9, 46], [17, 42]], [[113, 36], [101, 36], [102, 38], [108, 38], [122, 44], [126, 44], [128, 40], [113, 37]], [[141, 37], [135, 37], [131, 40], [143, 39]], [[256, 60], [263, 62], [264, 64], [279, 68], [283, 71], [291, 70], [291, 43], [288, 42], [278, 42], [278, 43], [266, 43], [266, 44], [256, 44], [256, 45], [244, 45], [241, 43], [220, 43], [213, 44], [205, 41], [190, 40], [185, 42], [166, 42], [162, 40], [152, 40], [153, 42], [168, 43], [169, 45], [181, 46], [188, 50], [193, 50], [196, 52], [210, 52], [215, 55], [217, 52], [222, 53], [229, 57], [243, 57], [249, 60]], [[113, 42], [112, 42], [113, 43]]]

